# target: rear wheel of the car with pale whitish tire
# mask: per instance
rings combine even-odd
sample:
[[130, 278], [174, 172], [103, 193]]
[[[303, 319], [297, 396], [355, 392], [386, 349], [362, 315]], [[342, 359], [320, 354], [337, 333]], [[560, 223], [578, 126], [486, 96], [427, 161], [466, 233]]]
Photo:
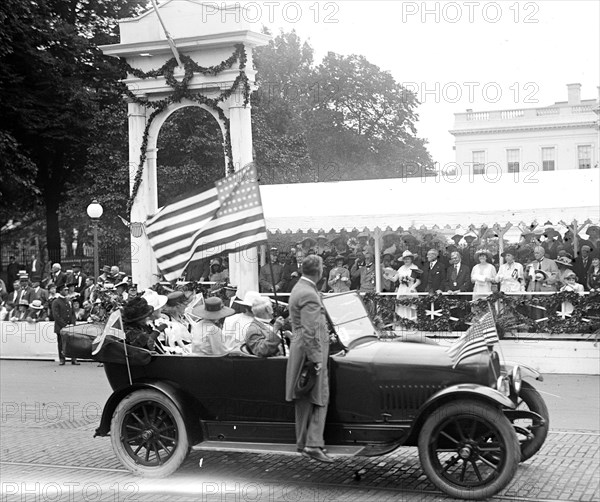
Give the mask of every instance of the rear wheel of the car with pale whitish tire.
[[110, 429], [115, 455], [138, 476], [169, 476], [190, 451], [177, 406], [155, 390], [142, 389], [126, 396], [115, 408]]

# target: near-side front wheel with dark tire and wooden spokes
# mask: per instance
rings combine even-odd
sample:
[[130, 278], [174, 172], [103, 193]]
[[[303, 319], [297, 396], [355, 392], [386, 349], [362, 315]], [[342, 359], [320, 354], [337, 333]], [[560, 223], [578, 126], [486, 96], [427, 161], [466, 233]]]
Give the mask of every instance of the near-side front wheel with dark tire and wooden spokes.
[[515, 431], [491, 404], [444, 404], [419, 433], [419, 458], [429, 480], [451, 497], [485, 499], [513, 478], [521, 451]]

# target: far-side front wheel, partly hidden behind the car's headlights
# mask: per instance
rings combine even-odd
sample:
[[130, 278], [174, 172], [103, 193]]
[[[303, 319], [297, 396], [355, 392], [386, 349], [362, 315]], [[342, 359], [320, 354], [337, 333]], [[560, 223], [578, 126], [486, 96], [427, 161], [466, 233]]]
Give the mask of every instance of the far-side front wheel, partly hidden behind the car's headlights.
[[528, 382], [521, 384], [517, 410], [529, 410], [542, 417], [513, 420], [513, 427], [521, 444], [521, 462], [533, 457], [546, 441], [550, 429], [548, 407], [540, 393]]

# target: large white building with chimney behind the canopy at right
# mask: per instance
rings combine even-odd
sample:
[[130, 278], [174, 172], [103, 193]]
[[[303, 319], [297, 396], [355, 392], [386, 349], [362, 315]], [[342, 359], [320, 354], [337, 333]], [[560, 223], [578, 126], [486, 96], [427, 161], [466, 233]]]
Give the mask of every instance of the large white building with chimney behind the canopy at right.
[[450, 133], [462, 175], [514, 173], [523, 180], [540, 171], [598, 168], [599, 100], [581, 100], [581, 84], [567, 88], [568, 101], [543, 108], [456, 113]]

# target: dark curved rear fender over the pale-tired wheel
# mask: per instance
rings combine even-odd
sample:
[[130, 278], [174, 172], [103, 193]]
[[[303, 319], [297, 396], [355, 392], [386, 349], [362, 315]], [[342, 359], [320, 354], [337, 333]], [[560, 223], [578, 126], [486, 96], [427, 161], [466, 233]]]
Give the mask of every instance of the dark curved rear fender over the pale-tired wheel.
[[100, 425], [96, 429], [94, 437], [108, 436], [110, 434], [110, 422], [118, 404], [125, 397], [140, 389], [156, 390], [173, 401], [173, 404], [175, 404], [175, 407], [183, 417], [190, 440], [194, 442], [201, 440], [202, 430], [199, 422], [199, 410], [195, 409], [196, 407], [193, 405], [191, 398], [178, 388], [176, 384], [164, 380], [136, 382], [133, 385], [122, 387], [113, 392], [104, 405]]

